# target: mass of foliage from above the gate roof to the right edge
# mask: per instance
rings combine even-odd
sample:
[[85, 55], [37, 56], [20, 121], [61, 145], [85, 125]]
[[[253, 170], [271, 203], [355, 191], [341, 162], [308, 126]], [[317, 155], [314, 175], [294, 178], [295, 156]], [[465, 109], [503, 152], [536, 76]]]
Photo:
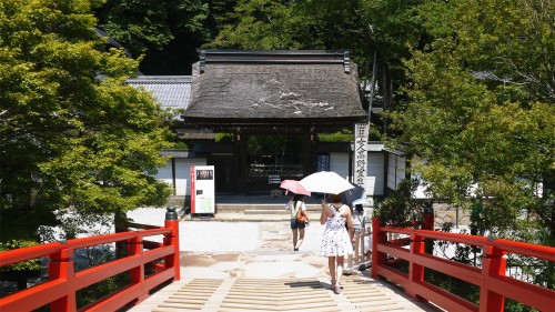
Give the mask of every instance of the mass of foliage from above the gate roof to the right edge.
[[414, 155], [428, 192], [468, 210], [477, 198], [475, 222], [488, 231], [546, 232], [554, 244], [554, 10], [538, 0], [243, 0], [206, 47], [350, 48], [365, 85], [377, 52], [382, 131]]

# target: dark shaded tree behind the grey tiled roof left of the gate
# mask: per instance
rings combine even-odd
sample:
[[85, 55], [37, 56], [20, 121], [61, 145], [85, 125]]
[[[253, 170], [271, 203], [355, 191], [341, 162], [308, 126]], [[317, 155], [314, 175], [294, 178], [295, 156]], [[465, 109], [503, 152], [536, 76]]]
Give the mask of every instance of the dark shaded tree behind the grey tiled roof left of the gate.
[[97, 16], [133, 58], [144, 54], [143, 72], [190, 74], [196, 48], [209, 36], [208, 10], [201, 0], [108, 0]]

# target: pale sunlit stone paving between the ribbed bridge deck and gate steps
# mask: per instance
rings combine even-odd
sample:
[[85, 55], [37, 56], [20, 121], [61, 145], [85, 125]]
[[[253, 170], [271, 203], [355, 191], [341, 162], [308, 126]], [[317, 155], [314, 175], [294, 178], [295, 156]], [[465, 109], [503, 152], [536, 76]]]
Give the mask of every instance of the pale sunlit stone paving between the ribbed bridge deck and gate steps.
[[[182, 222], [186, 229], [206, 228], [202, 240], [185, 238], [182, 274], [191, 278], [305, 278], [325, 276], [327, 261], [317, 254], [323, 227], [310, 225], [300, 251], [293, 251], [291, 229], [281, 222]], [[195, 235], [196, 236], [196, 235]], [[218, 239], [215, 239], [218, 236]], [[191, 238], [190, 241], [194, 241]], [[208, 245], [210, 244], [210, 246]], [[212, 248], [212, 249], [211, 249]]]

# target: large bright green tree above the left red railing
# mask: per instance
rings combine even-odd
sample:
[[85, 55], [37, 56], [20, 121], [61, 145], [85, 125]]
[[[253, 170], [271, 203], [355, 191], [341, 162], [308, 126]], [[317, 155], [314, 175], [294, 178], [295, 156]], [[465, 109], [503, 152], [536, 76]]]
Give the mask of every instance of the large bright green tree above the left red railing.
[[53, 212], [161, 205], [152, 178], [167, 114], [127, 85], [138, 62], [107, 48], [89, 0], [0, 1], [0, 241], [38, 240]]

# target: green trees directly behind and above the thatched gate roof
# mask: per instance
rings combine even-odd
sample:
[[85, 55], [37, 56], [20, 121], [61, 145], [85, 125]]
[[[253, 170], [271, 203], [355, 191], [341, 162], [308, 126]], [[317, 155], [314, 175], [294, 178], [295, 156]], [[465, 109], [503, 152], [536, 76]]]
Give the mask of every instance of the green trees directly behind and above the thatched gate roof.
[[[415, 10], [420, 1], [401, 0], [242, 0], [233, 18], [204, 48], [224, 49], [350, 49], [364, 85], [372, 80], [377, 56], [376, 84], [384, 107], [404, 98], [397, 92], [406, 81], [402, 58], [427, 40]], [[228, 14], [230, 17], [230, 14]], [[364, 88], [365, 90], [367, 88]], [[367, 103], [365, 103], [367, 105]], [[380, 118], [381, 131], [386, 130]], [[379, 137], [379, 135], [374, 135]]]

